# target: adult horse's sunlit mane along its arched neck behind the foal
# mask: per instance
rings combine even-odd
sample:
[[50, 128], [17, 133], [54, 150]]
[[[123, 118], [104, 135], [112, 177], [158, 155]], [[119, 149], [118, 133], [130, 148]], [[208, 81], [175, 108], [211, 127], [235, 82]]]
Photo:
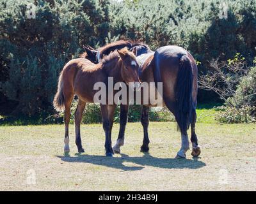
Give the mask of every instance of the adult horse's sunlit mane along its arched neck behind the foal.
[[[131, 40], [118, 40], [113, 43], [109, 43], [108, 45], [105, 45], [104, 47], [99, 48], [100, 52], [100, 58], [104, 57], [104, 55], [109, 55], [111, 52], [117, 50], [120, 50], [122, 48], [127, 47], [128, 50], [130, 50], [132, 47], [136, 46], [143, 46], [147, 49], [149, 49], [148, 45], [141, 41], [131, 41]], [[82, 58], [85, 58], [87, 56], [86, 52], [83, 54], [79, 55]]]

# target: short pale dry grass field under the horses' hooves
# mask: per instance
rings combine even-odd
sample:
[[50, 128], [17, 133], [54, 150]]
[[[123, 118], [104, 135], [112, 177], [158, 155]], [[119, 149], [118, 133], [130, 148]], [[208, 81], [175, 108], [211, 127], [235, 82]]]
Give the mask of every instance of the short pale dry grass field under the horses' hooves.
[[[141, 124], [129, 123], [122, 154], [109, 158], [100, 124], [81, 126], [81, 155], [70, 126], [69, 156], [63, 154], [63, 125], [0, 126], [0, 190], [256, 190], [255, 124], [198, 123], [198, 159], [190, 150], [187, 159], [175, 159], [175, 129], [174, 123], [151, 122], [150, 154], [143, 154]], [[115, 124], [113, 143], [117, 134]]]

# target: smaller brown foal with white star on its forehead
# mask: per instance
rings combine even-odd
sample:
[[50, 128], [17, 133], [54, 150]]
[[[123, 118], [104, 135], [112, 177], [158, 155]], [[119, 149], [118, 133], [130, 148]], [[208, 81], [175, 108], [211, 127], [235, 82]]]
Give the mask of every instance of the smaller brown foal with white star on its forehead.
[[[138, 78], [138, 63], [134, 53], [127, 48], [116, 51], [104, 57], [99, 64], [93, 64], [87, 59], [72, 59], [63, 68], [58, 82], [58, 92], [54, 97], [54, 108], [58, 111], [65, 110], [65, 147], [69, 152], [68, 124], [70, 121], [70, 106], [74, 95], [79, 98], [75, 113], [76, 145], [78, 152], [84, 152], [81, 143], [80, 124], [86, 103], [93, 103], [96, 90], [93, 90], [97, 82], [102, 82], [108, 87], [108, 78], [113, 78], [113, 83], [118, 82], [140, 82]], [[109, 87], [108, 89], [109, 90]], [[114, 93], [115, 90], [111, 90]], [[112, 156], [111, 129], [113, 126], [113, 114], [116, 105], [108, 103], [108, 92], [106, 93], [106, 104], [100, 104], [103, 128], [106, 135], [106, 155]]]

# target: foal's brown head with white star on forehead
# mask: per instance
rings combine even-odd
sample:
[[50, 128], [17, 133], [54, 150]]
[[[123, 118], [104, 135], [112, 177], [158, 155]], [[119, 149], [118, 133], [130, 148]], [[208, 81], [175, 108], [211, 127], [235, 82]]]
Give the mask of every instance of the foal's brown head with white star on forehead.
[[120, 55], [120, 59], [122, 60], [122, 71], [121, 75], [126, 84], [129, 82], [138, 82], [135, 84], [135, 87], [138, 88], [140, 83], [138, 69], [139, 65], [136, 61], [136, 49], [133, 52], [127, 50], [127, 48], [123, 48], [122, 50], [116, 50]]

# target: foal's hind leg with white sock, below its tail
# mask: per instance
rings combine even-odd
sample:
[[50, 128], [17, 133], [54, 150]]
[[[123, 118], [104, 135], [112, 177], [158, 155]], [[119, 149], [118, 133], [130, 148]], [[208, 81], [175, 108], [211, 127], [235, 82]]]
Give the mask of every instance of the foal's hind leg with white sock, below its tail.
[[65, 121], [65, 138], [64, 138], [64, 152], [69, 153], [69, 136], [68, 136], [68, 124], [70, 121], [70, 106], [72, 103], [72, 96], [65, 99], [65, 112], [64, 112], [64, 121]]

